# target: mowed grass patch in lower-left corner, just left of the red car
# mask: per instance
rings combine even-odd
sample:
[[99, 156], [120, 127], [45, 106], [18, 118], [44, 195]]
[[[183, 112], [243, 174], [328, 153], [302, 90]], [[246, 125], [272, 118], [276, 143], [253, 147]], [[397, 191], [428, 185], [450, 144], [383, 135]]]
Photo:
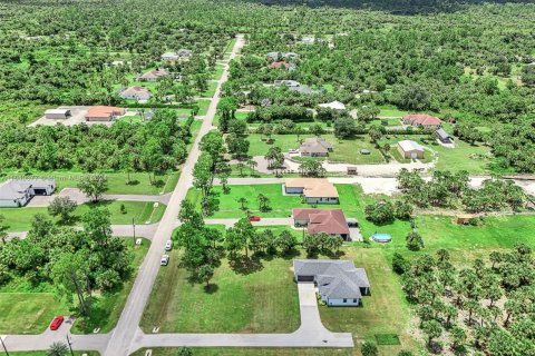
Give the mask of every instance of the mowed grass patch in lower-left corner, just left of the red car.
[[40, 334], [57, 315], [69, 315], [49, 293], [0, 293], [0, 334]]

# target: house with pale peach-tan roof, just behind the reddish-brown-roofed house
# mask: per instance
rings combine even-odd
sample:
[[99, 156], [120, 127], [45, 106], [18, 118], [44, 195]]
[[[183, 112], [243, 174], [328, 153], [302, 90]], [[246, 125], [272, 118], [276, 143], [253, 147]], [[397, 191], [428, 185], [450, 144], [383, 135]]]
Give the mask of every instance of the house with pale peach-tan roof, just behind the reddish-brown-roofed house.
[[308, 204], [338, 204], [338, 190], [327, 178], [288, 178], [284, 192], [300, 195]]

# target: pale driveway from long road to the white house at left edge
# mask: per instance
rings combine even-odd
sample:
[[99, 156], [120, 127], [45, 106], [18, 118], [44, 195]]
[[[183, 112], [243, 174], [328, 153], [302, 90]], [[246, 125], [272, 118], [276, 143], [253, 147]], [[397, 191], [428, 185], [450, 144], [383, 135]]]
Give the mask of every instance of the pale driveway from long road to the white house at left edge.
[[[28, 202], [27, 207], [36, 208], [36, 207], [48, 207], [50, 202], [56, 197], [69, 197], [72, 201], [78, 205], [89, 202], [90, 199], [86, 197], [84, 192], [81, 192], [78, 188], [64, 188], [57, 195], [52, 196], [35, 196]], [[149, 196], [149, 195], [135, 195], [135, 194], [107, 194], [103, 196], [103, 200], [119, 200], [119, 201], [157, 201], [167, 205], [171, 199], [171, 194], [166, 195], [157, 195], [157, 196]]]

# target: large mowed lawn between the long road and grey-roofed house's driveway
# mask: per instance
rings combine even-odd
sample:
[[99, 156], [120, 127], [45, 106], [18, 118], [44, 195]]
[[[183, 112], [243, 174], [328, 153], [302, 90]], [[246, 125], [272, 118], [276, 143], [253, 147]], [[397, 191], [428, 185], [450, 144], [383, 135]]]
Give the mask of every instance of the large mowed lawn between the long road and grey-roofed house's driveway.
[[224, 259], [210, 289], [191, 284], [172, 251], [169, 266], [160, 268], [142, 328], [150, 333], [291, 333], [299, 327], [298, 288], [291, 260], [262, 260], [262, 268], [234, 271]]

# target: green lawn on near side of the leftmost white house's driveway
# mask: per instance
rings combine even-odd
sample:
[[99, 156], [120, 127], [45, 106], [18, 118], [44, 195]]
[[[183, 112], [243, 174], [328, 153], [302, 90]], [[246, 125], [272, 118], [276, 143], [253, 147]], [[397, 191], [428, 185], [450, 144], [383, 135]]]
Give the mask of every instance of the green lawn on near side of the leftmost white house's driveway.
[[[120, 212], [120, 206], [124, 205], [126, 214]], [[154, 208], [154, 202], [145, 201], [101, 201], [99, 204], [84, 204], [76, 208], [72, 214], [72, 222], [79, 224], [80, 217], [93, 207], [106, 207], [110, 216], [111, 224], [128, 225], [134, 219], [135, 224], [157, 222], [162, 219], [166, 206], [159, 204]], [[26, 231], [31, 227], [32, 217], [36, 214], [48, 215], [46, 207], [36, 208], [2, 208], [0, 212], [6, 218], [3, 225], [8, 226], [8, 231]], [[56, 220], [58, 220], [56, 218]]]

